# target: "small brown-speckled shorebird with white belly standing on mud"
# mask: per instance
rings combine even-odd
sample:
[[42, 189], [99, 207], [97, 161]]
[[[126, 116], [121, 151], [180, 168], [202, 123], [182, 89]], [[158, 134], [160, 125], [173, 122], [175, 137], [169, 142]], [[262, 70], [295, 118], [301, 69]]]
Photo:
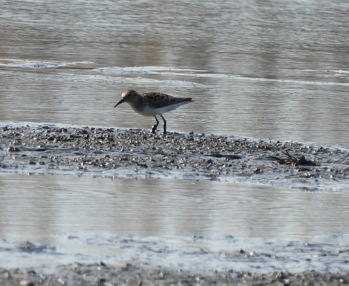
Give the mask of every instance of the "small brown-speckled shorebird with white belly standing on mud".
[[166, 120], [163, 114], [168, 111], [175, 110], [180, 105], [192, 102], [191, 97], [173, 97], [164, 93], [141, 91], [137, 92], [133, 89], [126, 90], [122, 93], [122, 100], [120, 100], [115, 106], [120, 103], [126, 102], [137, 113], [145, 116], [154, 116], [156, 124], [151, 129], [151, 133], [155, 133], [159, 120], [156, 116], [161, 116], [164, 120], [164, 134], [166, 134]]

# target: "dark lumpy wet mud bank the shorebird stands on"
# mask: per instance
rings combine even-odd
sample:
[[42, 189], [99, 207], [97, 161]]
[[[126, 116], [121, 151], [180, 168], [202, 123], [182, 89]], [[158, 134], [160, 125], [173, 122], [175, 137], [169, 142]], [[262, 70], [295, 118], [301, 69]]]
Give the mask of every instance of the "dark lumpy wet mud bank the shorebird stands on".
[[206, 134], [0, 126], [0, 172], [346, 188], [349, 148]]

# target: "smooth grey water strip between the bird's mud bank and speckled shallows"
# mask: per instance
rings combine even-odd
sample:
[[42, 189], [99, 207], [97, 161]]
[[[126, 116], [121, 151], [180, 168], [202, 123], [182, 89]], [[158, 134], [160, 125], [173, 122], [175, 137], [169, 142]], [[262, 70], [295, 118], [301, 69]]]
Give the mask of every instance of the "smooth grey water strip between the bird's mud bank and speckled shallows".
[[[0, 176], [0, 237], [52, 234], [270, 237], [345, 233], [348, 196], [221, 182]], [[20, 230], [20, 231], [18, 231]]]

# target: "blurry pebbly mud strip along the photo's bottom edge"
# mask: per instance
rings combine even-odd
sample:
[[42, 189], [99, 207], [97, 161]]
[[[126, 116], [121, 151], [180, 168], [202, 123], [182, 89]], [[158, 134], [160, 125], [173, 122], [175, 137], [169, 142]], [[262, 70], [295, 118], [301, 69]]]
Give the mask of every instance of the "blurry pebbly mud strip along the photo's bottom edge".
[[57, 273], [37, 273], [0, 269], [1, 285], [348, 285], [349, 277], [339, 273], [251, 272], [191, 273], [180, 270], [145, 268], [133, 264], [120, 266], [74, 263], [58, 267]]

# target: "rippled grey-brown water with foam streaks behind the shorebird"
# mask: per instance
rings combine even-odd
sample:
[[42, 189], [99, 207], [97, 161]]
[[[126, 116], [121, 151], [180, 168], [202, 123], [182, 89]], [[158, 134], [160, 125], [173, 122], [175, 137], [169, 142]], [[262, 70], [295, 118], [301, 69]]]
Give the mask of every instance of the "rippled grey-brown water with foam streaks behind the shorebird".
[[192, 96], [168, 129], [349, 144], [348, 4], [2, 1], [0, 120], [147, 128], [122, 91]]

